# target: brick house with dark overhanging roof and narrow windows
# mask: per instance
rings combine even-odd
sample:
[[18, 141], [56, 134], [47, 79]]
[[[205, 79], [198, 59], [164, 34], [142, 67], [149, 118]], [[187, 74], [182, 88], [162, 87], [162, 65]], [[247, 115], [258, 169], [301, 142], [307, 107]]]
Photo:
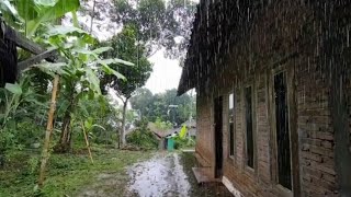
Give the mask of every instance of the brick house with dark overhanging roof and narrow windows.
[[178, 93], [196, 158], [242, 196], [351, 196], [349, 0], [201, 0]]

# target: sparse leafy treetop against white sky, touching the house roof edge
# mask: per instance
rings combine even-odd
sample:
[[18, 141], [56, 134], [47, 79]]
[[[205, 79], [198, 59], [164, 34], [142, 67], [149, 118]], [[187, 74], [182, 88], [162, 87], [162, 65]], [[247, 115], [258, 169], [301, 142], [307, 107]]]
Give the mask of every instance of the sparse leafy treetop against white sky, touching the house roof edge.
[[190, 40], [196, 3], [192, 0], [115, 0], [115, 18], [120, 24], [139, 28], [147, 55], [166, 48], [166, 56], [183, 60]]

